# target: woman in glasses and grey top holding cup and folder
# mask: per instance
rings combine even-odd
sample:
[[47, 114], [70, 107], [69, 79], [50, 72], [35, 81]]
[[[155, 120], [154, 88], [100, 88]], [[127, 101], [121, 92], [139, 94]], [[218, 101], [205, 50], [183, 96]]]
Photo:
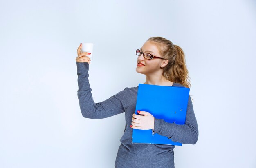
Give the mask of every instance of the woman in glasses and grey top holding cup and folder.
[[[78, 98], [83, 117], [100, 119], [123, 113], [125, 111], [126, 126], [120, 139], [115, 168], [174, 168], [173, 145], [133, 144], [133, 129], [152, 129], [159, 135], [166, 136], [174, 142], [195, 144], [198, 140], [198, 125], [193, 111], [191, 97], [184, 125], [165, 122], [154, 118], [146, 111], [138, 111], [136, 115], [137, 87], [125, 88], [109, 99], [94, 103], [88, 81], [90, 53], [81, 53], [81, 45], [76, 57], [78, 74]], [[185, 64], [182, 49], [162, 37], [151, 37], [136, 50], [138, 55], [138, 73], [146, 76], [144, 84], [163, 86], [190, 87], [189, 73]]]

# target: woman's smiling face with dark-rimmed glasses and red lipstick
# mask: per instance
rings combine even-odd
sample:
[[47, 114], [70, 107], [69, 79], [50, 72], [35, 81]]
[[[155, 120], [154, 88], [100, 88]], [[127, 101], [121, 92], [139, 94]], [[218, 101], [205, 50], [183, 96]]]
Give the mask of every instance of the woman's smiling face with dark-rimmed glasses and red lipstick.
[[[146, 41], [140, 50], [143, 53], [150, 53], [157, 57], [162, 57], [162, 55], [159, 54], [157, 46], [155, 46], [150, 41]], [[144, 64], [144, 66], [138, 66], [139, 62]], [[140, 56], [138, 56], [138, 59], [137, 59], [136, 72], [142, 73], [145, 75], [150, 74], [150, 73], [155, 73], [156, 71], [159, 71], [161, 69], [160, 66], [161, 66], [162, 62], [163, 62], [163, 59], [159, 59], [159, 58], [153, 58], [151, 60], [147, 60], [146, 58], [143, 57], [143, 54], [141, 54]]]

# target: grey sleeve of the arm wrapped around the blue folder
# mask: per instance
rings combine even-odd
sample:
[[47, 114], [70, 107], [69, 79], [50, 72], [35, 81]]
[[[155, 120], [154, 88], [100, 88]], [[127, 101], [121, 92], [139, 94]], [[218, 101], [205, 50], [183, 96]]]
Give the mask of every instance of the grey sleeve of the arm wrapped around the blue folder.
[[191, 97], [186, 112], [185, 124], [175, 124], [165, 122], [164, 119], [155, 118], [154, 122], [155, 133], [166, 136], [173, 142], [182, 144], [195, 144], [198, 140], [198, 124], [195, 118]]

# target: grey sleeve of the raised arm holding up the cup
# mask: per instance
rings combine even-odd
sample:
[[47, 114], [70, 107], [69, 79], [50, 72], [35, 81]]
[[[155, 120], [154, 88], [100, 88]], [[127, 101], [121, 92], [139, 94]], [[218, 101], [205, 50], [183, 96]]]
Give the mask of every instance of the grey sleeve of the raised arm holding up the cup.
[[89, 84], [89, 64], [87, 62], [76, 62], [77, 75], [78, 75], [78, 91], [77, 96], [79, 99], [79, 106], [81, 113], [85, 118], [101, 119], [111, 117], [123, 113], [124, 101], [128, 88], [126, 87], [123, 91], [111, 96], [99, 103], [94, 103], [92, 97], [92, 89]]

